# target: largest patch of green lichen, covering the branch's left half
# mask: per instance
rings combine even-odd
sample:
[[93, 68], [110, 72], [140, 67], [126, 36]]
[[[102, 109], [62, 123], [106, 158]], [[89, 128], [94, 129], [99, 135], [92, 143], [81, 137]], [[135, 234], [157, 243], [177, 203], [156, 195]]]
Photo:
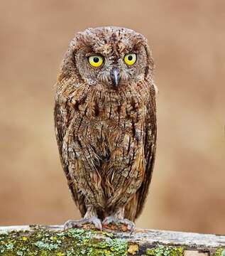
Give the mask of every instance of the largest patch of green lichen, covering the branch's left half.
[[0, 233], [0, 255], [6, 256], [124, 256], [127, 247], [126, 240], [114, 238], [113, 234], [78, 228]]

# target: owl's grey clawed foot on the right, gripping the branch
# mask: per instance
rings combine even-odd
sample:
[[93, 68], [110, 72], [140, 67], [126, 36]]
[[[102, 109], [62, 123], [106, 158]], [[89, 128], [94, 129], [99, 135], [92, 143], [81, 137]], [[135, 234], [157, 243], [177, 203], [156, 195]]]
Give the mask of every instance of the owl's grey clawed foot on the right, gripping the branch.
[[[115, 225], [113, 225], [113, 224], [116, 225], [116, 228], [115, 228]], [[123, 218], [123, 219], [115, 218], [114, 216], [106, 217], [103, 220], [102, 225], [106, 229], [110, 229], [110, 230], [119, 229], [119, 230], [122, 230], [125, 232], [130, 231], [131, 233], [133, 232], [133, 230], [135, 228], [135, 224], [133, 223], [133, 221], [128, 220], [126, 218]]]

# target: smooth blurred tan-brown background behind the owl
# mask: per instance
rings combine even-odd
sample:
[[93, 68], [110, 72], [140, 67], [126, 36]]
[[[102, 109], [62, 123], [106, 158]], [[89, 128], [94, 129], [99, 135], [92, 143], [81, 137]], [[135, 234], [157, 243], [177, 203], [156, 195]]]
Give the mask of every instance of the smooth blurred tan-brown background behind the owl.
[[158, 152], [138, 226], [225, 233], [225, 1], [1, 1], [0, 225], [79, 218], [55, 142], [54, 83], [77, 31], [125, 26], [153, 49]]

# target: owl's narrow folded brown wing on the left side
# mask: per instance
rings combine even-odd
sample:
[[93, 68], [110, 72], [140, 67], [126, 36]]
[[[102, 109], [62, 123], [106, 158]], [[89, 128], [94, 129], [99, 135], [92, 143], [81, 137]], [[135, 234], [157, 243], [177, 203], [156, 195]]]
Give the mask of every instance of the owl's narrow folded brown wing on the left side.
[[[63, 114], [62, 114], [62, 110], [63, 110]], [[75, 189], [75, 186], [74, 186], [74, 182], [72, 181], [72, 178], [69, 175], [68, 165], [66, 164], [62, 156], [63, 138], [65, 137], [67, 128], [69, 126], [69, 122], [67, 122], [67, 120], [70, 119], [69, 115], [70, 115], [70, 111], [67, 110], [67, 107], [63, 106], [62, 108], [62, 105], [60, 105], [60, 103], [56, 99], [55, 108], [54, 108], [55, 135], [57, 139], [57, 146], [60, 152], [60, 161], [62, 163], [65, 176], [67, 177], [67, 183], [72, 193], [72, 198], [74, 199], [76, 205], [79, 207], [79, 210], [83, 216], [86, 213], [86, 208], [84, 206], [84, 197], [81, 194], [77, 193], [77, 190]]]

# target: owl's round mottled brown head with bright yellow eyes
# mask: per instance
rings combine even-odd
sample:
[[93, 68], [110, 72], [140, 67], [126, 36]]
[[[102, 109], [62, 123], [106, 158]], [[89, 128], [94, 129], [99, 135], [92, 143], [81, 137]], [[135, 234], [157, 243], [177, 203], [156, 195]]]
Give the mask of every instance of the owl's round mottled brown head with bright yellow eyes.
[[60, 78], [118, 90], [152, 76], [147, 40], [128, 28], [87, 28], [77, 33], [62, 62]]

